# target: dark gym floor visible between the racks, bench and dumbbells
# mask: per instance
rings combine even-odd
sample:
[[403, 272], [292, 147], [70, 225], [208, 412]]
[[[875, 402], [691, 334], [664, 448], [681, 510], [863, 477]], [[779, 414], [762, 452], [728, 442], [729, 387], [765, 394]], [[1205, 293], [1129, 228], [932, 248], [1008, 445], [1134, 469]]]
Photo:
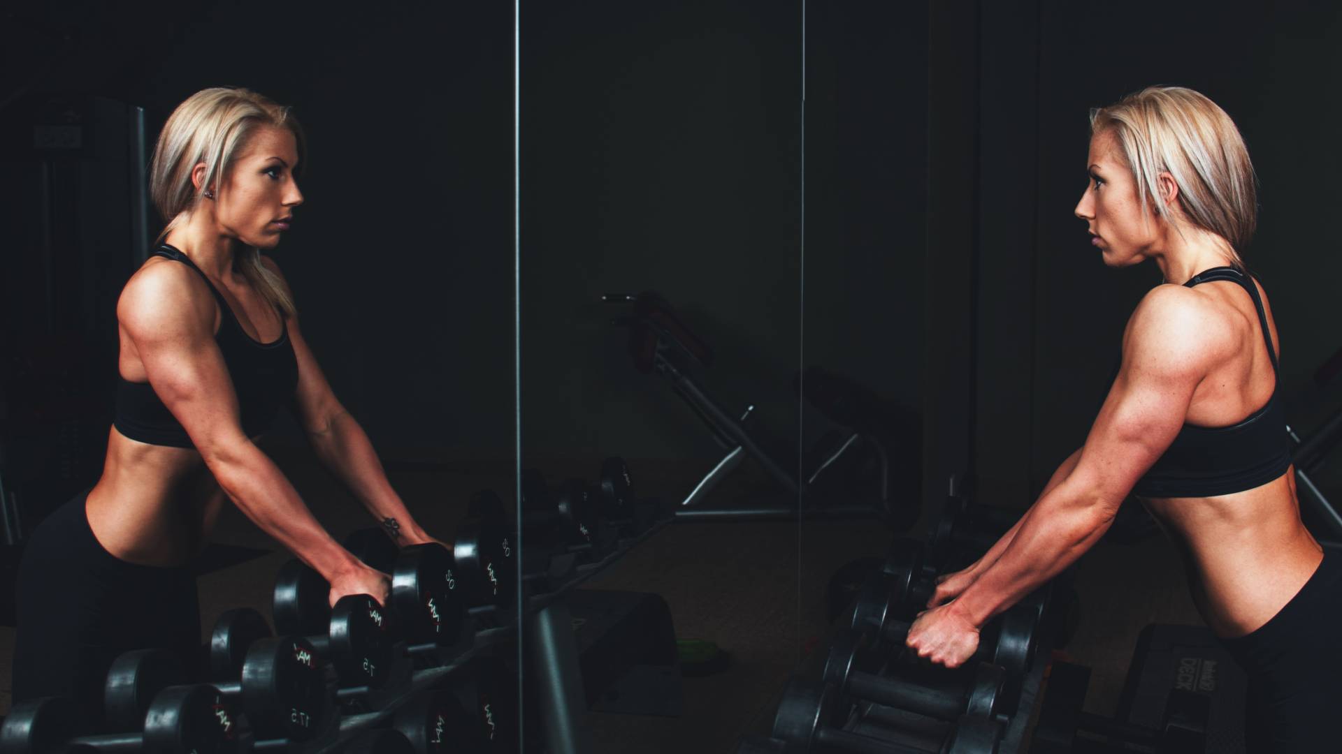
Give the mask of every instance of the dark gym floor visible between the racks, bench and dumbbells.
[[[370, 523], [362, 508], [306, 452], [272, 449], [303, 499], [337, 537]], [[696, 464], [627, 459], [640, 495], [675, 498], [688, 490]], [[600, 459], [556, 459], [538, 464], [557, 482], [573, 470], [595, 470]], [[742, 468], [742, 471], [745, 467]], [[466, 518], [466, 500], [479, 488], [503, 491], [510, 464], [462, 464], [435, 471], [391, 471], [400, 495], [424, 526], [451, 537]], [[749, 494], [757, 480], [738, 472], [718, 490], [719, 500]], [[318, 502], [319, 500], [319, 502]], [[710, 502], [713, 502], [710, 499]], [[933, 511], [934, 513], [934, 511]], [[915, 526], [911, 535], [922, 531]], [[589, 589], [654, 592], [670, 604], [676, 636], [715, 641], [731, 653], [726, 672], [684, 679], [680, 718], [589, 712], [585, 723], [597, 753], [729, 753], [745, 733], [768, 733], [782, 684], [823, 637], [825, 588], [839, 566], [882, 555], [890, 531], [871, 522], [679, 523], [631, 550], [590, 578]], [[216, 541], [270, 554], [200, 578], [203, 631], [229, 608], [270, 614], [274, 574], [289, 555], [234, 507], [225, 507]], [[1200, 624], [1178, 558], [1164, 538], [1134, 545], [1103, 541], [1076, 566], [1080, 624], [1066, 653], [1092, 668], [1086, 710], [1113, 714], [1137, 635], [1150, 623]], [[204, 636], [201, 640], [204, 641]], [[821, 644], [823, 648], [823, 644]], [[0, 628], [0, 712], [9, 708], [13, 629]]]

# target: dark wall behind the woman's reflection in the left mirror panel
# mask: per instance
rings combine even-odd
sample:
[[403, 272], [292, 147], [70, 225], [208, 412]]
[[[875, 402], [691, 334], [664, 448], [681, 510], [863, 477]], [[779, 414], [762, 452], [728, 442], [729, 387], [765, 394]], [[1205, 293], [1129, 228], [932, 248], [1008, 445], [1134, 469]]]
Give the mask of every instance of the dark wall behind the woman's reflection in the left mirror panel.
[[[274, 258], [337, 396], [384, 456], [511, 459], [511, 4], [56, 3], [11, 21], [5, 43], [21, 47], [0, 97], [25, 91], [0, 118], [19, 125], [16, 170], [51, 95], [145, 107], [150, 149], [207, 86], [291, 105], [310, 140], [306, 203]], [[11, 237], [36, 254], [34, 233]], [[16, 341], [32, 326], [5, 322]], [[275, 435], [303, 443], [291, 423]]]

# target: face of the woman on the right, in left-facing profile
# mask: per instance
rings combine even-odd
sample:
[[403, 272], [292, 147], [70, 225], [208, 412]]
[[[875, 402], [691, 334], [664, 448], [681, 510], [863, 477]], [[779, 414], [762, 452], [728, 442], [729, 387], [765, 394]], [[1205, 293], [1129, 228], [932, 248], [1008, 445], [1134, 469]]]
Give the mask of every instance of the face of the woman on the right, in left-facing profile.
[[1111, 131], [1091, 138], [1087, 172], [1090, 182], [1075, 213], [1090, 227], [1091, 243], [1100, 250], [1104, 264], [1127, 267], [1145, 260], [1158, 240], [1159, 220], [1143, 217], [1137, 181]]

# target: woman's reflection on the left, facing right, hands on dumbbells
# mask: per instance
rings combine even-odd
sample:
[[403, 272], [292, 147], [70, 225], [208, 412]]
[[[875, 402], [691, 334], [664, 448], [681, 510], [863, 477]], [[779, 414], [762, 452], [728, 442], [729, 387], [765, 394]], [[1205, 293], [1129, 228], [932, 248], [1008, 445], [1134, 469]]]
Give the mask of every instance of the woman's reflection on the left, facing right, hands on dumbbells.
[[[303, 201], [298, 122], [255, 93], [207, 89], [164, 125], [150, 193], [168, 221], [117, 303], [119, 381], [102, 476], [30, 539], [17, 586], [13, 699], [70, 695], [98, 719], [122, 651], [200, 645], [189, 562], [224, 498], [330, 582], [388, 578], [342, 549], [256, 447], [291, 402], [322, 462], [403, 545], [429, 541], [298, 327], [275, 248]], [[193, 667], [188, 664], [187, 667]]]

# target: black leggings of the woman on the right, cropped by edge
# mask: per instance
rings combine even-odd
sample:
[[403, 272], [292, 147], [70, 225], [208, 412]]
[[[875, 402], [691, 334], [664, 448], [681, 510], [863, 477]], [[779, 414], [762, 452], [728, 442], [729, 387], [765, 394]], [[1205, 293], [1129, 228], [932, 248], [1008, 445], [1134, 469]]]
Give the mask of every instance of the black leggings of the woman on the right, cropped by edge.
[[1221, 643], [1248, 674], [1249, 754], [1337, 751], [1342, 710], [1342, 557], [1325, 551], [1304, 586], [1257, 631]]

